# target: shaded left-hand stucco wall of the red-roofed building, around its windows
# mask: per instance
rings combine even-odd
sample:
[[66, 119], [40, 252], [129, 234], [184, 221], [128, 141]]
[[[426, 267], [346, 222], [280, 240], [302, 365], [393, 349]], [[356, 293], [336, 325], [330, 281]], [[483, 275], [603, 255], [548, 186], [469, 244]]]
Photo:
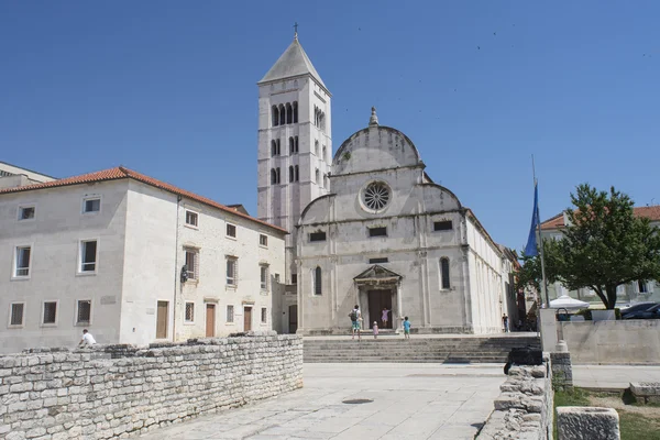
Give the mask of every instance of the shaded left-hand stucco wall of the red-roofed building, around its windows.
[[[127, 221], [125, 180], [0, 196], [0, 350], [72, 346], [82, 327], [98, 342], [118, 342]], [[82, 199], [101, 197], [96, 213]], [[19, 206], [34, 206], [34, 220], [18, 221]], [[79, 241], [98, 240], [97, 271], [79, 274]], [[32, 246], [30, 277], [12, 279], [14, 249]], [[76, 301], [91, 299], [91, 322], [76, 326]], [[56, 324], [42, 324], [43, 301], [56, 300]], [[25, 302], [24, 326], [9, 328], [10, 304]]]

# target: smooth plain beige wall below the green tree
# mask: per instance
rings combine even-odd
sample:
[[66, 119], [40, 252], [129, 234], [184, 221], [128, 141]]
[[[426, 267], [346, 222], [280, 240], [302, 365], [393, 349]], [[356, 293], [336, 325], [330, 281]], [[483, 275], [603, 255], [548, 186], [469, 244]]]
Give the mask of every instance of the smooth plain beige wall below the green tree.
[[574, 364], [660, 365], [660, 319], [557, 324]]

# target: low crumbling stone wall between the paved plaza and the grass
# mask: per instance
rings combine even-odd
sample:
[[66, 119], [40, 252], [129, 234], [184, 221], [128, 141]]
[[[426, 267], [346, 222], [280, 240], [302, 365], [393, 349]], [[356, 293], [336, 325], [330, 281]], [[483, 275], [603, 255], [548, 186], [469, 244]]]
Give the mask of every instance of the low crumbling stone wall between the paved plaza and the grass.
[[550, 360], [543, 365], [512, 366], [507, 381], [499, 387], [495, 410], [476, 440], [552, 439], [553, 396]]

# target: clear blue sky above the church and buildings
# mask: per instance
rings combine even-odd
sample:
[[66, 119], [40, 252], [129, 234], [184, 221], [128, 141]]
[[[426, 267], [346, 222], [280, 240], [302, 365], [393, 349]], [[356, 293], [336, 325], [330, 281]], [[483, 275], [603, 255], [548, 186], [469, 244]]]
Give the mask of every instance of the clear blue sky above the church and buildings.
[[300, 42], [334, 148], [369, 122], [520, 250], [575, 185], [660, 202], [658, 1], [2, 1], [0, 161], [123, 164], [256, 215], [255, 82]]

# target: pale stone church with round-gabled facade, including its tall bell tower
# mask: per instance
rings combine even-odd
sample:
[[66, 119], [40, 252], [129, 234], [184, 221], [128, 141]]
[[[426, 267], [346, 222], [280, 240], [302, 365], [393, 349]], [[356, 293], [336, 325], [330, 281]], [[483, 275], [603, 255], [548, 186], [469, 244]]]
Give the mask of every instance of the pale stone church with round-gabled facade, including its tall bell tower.
[[426, 173], [415, 144], [369, 125], [332, 154], [331, 94], [297, 35], [258, 85], [258, 218], [289, 231], [274, 329], [493, 333], [516, 308], [513, 254]]

